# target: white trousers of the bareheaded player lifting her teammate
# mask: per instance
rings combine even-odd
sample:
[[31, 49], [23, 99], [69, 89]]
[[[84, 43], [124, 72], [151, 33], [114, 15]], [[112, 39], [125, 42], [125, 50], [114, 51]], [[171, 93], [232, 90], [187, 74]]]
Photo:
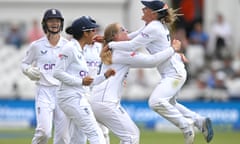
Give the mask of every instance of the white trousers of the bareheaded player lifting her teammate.
[[119, 103], [90, 103], [96, 119], [120, 138], [120, 144], [139, 144], [139, 129]]

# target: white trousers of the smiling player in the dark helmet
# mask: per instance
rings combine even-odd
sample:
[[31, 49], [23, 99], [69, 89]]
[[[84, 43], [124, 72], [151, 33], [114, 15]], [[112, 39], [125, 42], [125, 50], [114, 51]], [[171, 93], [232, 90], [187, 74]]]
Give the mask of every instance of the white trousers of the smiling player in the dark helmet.
[[68, 144], [69, 121], [56, 103], [57, 87], [38, 86], [35, 96], [37, 126], [32, 144], [47, 144], [54, 124], [54, 144]]

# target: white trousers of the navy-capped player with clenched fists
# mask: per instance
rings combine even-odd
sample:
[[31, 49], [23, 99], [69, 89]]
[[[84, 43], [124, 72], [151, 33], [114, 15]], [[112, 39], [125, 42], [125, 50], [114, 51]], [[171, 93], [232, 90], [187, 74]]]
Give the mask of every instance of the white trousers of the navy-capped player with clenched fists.
[[[71, 94], [70, 94], [71, 95]], [[61, 98], [58, 99], [59, 106], [70, 119], [71, 127], [80, 129], [89, 140], [90, 144], [105, 144], [103, 133], [94, 117], [92, 108], [85, 97], [76, 97], [68, 95], [68, 98], [64, 98], [61, 94]], [[72, 129], [74, 130], [74, 129]], [[78, 132], [71, 132], [76, 134]], [[70, 136], [70, 144], [79, 144], [78, 138]]]

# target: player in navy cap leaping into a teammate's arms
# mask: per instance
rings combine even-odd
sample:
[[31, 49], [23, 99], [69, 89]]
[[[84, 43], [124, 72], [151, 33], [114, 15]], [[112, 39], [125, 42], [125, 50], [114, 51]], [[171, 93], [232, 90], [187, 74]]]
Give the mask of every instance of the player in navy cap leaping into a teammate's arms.
[[[155, 54], [170, 46], [168, 25], [173, 24], [177, 14], [163, 1], [141, 2], [145, 6], [142, 9], [142, 20], [145, 21], [145, 25], [129, 35], [130, 41], [109, 43], [108, 46], [113, 51], [117, 49], [134, 51], [139, 47], [146, 47], [150, 54]], [[210, 142], [213, 138], [211, 120], [177, 102], [177, 93], [186, 81], [187, 74], [181, 55], [175, 53], [162, 65], [158, 65], [157, 70], [162, 79], [149, 98], [149, 106], [183, 132], [185, 144], [194, 142], [193, 126], [201, 130], [205, 140]]]

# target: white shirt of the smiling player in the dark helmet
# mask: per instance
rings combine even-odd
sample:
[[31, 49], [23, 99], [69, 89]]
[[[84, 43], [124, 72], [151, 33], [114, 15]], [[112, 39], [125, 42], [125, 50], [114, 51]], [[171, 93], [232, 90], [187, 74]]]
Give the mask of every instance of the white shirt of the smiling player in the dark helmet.
[[26, 71], [32, 64], [40, 68], [41, 78], [36, 83], [44, 86], [58, 86], [59, 81], [53, 77], [53, 70], [58, 59], [59, 51], [68, 42], [60, 37], [57, 45], [52, 47], [47, 37], [32, 42], [22, 60], [22, 70]]

